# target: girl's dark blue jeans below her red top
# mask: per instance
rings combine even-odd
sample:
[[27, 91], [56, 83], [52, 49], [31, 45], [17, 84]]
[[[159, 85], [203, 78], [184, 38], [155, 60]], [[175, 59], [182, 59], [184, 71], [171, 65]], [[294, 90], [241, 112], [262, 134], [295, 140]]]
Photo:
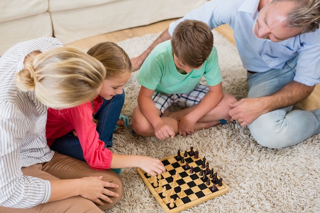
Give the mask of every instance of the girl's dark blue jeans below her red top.
[[[94, 116], [98, 120], [97, 132], [99, 133], [99, 138], [104, 141], [105, 147], [112, 146], [113, 130], [119, 119], [124, 99], [124, 92], [110, 100], [103, 99], [103, 104]], [[50, 148], [58, 153], [85, 160], [79, 138], [74, 136], [72, 132], [57, 138]]]

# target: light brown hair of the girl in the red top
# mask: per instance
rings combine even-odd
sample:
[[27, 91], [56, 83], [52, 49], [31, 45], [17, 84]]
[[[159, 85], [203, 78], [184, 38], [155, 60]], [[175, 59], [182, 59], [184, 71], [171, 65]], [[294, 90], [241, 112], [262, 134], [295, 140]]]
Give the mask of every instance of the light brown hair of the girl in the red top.
[[113, 78], [124, 73], [132, 73], [132, 64], [127, 53], [116, 43], [98, 43], [87, 54], [98, 59], [106, 69], [106, 79]]

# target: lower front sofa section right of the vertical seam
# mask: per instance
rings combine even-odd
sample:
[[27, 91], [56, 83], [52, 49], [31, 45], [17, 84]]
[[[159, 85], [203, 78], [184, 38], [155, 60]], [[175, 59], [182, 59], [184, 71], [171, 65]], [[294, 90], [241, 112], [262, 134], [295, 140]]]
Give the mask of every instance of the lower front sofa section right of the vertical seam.
[[205, 2], [207, 0], [119, 0], [95, 7], [52, 12], [54, 36], [67, 44], [90, 36], [182, 17]]

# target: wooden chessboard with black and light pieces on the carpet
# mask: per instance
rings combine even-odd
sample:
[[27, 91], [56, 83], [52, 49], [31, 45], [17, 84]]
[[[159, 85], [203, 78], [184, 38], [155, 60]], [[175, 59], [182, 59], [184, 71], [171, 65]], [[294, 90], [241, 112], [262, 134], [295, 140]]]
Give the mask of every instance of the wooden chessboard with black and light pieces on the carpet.
[[166, 172], [151, 176], [138, 168], [138, 174], [166, 213], [177, 213], [225, 194], [229, 188], [197, 150], [161, 160]]

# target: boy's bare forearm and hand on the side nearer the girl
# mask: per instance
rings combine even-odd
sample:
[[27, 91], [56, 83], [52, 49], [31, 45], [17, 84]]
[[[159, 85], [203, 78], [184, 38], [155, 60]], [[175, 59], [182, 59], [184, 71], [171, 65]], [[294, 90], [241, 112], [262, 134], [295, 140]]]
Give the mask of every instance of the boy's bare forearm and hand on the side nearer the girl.
[[152, 95], [154, 90], [141, 86], [138, 95], [140, 111], [154, 128], [154, 134], [159, 139], [165, 139], [165, 135], [174, 137], [175, 132], [171, 126], [166, 125], [161, 119], [161, 111], [154, 106]]

